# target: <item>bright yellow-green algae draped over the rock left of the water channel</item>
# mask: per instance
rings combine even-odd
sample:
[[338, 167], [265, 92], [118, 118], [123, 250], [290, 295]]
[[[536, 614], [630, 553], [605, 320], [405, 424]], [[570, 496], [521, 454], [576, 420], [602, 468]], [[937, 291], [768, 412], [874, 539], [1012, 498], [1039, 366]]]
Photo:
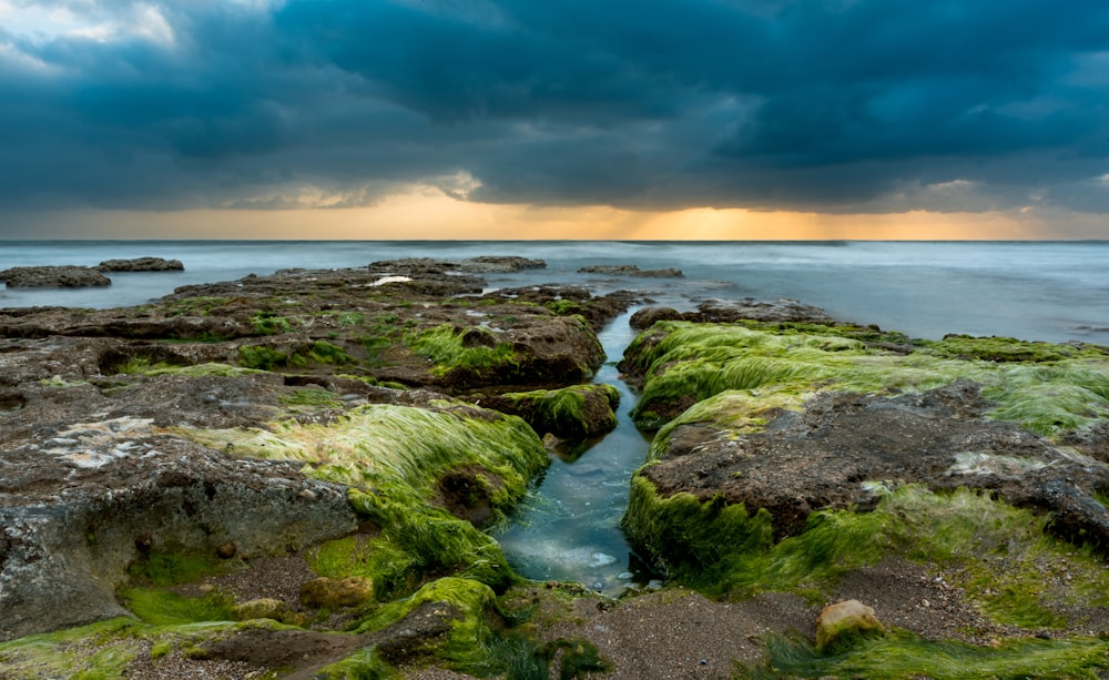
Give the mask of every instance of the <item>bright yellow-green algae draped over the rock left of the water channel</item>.
[[355, 487], [352, 504], [380, 534], [360, 547], [327, 544], [314, 566], [326, 576], [366, 576], [380, 598], [448, 574], [498, 589], [513, 582], [492, 538], [433, 504], [445, 476], [481, 476], [489, 481], [490, 510], [502, 518], [549, 460], [520, 418], [446, 400], [438, 409], [362, 406], [327, 425], [287, 422], [269, 429], [181, 434], [217, 448], [233, 444], [241, 455], [302, 460], [308, 475]]

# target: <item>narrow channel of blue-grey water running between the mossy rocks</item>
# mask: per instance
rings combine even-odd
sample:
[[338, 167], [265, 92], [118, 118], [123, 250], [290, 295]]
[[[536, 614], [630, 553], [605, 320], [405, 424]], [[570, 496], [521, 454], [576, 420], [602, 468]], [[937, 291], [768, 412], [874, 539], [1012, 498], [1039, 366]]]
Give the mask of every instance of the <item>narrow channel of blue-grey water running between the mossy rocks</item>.
[[615, 429], [580, 455], [552, 456], [539, 487], [496, 536], [509, 564], [526, 578], [578, 581], [612, 596], [651, 578], [620, 530], [631, 475], [643, 465], [650, 446], [650, 438], [631, 420], [635, 395], [617, 371], [635, 335], [628, 325], [633, 312], [599, 334], [608, 358], [593, 382], [620, 390]]

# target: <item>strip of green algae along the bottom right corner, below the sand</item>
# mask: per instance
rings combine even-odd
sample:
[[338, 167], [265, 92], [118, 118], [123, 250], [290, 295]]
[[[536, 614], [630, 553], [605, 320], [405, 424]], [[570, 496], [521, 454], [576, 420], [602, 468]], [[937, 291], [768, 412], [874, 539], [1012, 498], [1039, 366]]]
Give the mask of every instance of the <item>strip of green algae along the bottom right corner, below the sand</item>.
[[737, 669], [737, 677], [771, 678], [1090, 678], [1109, 668], [1109, 642], [1092, 638], [1007, 640], [983, 648], [936, 642], [908, 632], [863, 640], [833, 654], [808, 642], [772, 638], [767, 658]]

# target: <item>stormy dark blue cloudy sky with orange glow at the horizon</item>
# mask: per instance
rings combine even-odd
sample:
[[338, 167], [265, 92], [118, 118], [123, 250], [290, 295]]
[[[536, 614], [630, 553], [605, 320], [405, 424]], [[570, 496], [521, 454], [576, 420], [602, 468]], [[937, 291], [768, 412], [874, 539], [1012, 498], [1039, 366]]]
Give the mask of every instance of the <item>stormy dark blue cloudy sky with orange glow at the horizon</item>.
[[0, 238], [1109, 238], [1105, 0], [0, 0]]

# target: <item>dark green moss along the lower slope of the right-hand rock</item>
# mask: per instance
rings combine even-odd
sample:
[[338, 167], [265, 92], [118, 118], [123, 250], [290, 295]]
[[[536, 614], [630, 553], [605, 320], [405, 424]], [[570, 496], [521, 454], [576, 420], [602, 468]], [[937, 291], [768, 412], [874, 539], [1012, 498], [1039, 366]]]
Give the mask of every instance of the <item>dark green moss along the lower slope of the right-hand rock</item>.
[[966, 489], [879, 493], [872, 512], [815, 512], [801, 535], [774, 544], [764, 510], [659, 498], [635, 477], [623, 526], [673, 580], [718, 596], [790, 591], [818, 601], [846, 571], [901, 557], [960, 574], [968, 599], [999, 623], [1058, 628], [1067, 607], [1109, 605], [1103, 564], [1047, 535], [1045, 517]]

